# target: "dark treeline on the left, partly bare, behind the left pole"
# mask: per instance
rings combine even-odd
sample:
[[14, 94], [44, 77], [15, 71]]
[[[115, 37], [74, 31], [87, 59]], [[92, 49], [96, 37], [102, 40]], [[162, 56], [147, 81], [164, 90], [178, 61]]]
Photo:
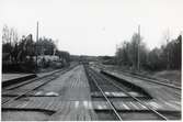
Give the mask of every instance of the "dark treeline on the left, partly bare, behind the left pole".
[[[59, 51], [53, 38], [41, 37], [33, 41], [33, 35], [23, 35], [19, 38], [18, 32], [13, 27], [3, 26], [2, 30], [2, 65], [25, 65], [35, 68], [37, 57], [50, 55], [58, 56], [60, 60], [70, 62], [68, 52]], [[46, 60], [46, 59], [44, 59]], [[2, 68], [3, 68], [2, 67]], [[12, 66], [11, 66], [12, 67]]]

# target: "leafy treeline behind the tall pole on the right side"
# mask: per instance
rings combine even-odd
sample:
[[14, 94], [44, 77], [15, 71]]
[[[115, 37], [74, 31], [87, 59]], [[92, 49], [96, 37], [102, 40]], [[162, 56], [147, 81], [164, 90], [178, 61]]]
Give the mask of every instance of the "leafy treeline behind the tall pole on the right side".
[[133, 69], [138, 69], [138, 66], [148, 70], [181, 69], [181, 46], [182, 35], [179, 35], [167, 45], [149, 51], [135, 33], [130, 42], [125, 41], [117, 47], [115, 63]]

